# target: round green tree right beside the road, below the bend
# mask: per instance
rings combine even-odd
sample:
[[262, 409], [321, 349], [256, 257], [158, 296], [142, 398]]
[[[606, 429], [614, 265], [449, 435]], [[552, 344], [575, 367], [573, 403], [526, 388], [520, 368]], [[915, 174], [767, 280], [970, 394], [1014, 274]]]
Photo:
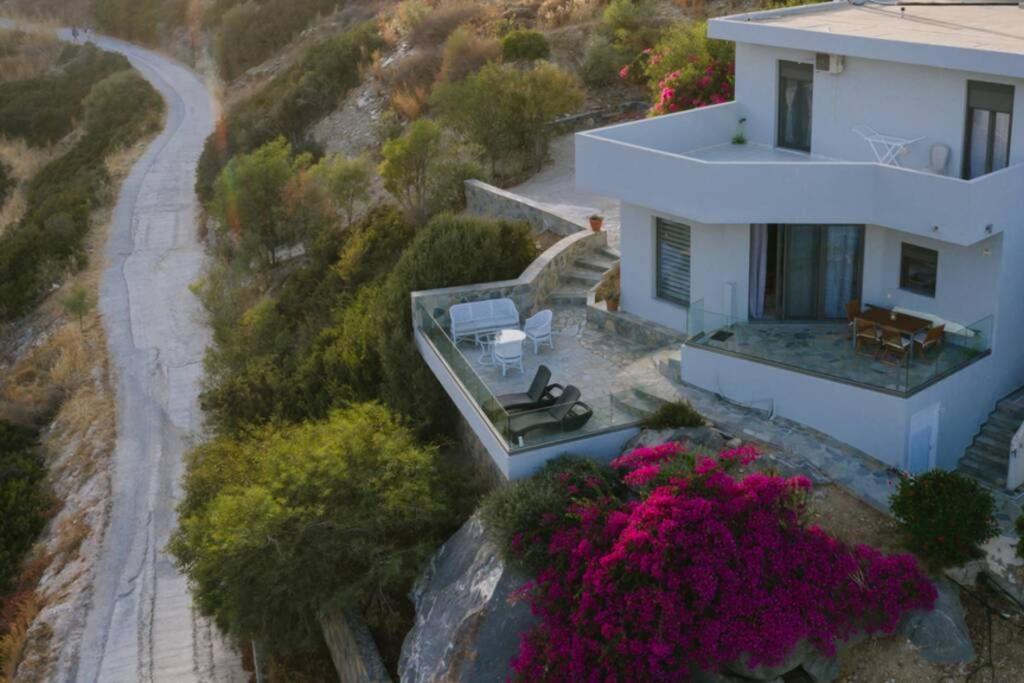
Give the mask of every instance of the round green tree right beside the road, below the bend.
[[217, 178], [211, 212], [247, 261], [256, 258], [263, 267], [273, 266], [282, 248], [314, 237], [309, 221], [293, 220], [303, 206], [296, 176], [311, 161], [309, 155], [293, 157], [292, 145], [279, 137], [232, 159]]

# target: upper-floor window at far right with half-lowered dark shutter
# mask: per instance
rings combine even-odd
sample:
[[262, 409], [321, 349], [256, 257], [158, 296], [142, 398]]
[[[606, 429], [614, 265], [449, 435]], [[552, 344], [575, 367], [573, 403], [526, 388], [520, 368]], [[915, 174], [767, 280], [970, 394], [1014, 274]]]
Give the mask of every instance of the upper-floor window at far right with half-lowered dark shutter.
[[965, 178], [977, 178], [1010, 164], [1013, 111], [1014, 86], [968, 81]]

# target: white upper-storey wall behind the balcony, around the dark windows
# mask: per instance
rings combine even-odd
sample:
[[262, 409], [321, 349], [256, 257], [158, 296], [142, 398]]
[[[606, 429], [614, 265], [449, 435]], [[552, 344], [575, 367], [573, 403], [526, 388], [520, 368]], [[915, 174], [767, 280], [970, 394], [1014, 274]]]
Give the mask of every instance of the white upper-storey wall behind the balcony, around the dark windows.
[[[814, 53], [738, 43], [736, 100], [751, 112], [748, 138], [775, 143], [778, 61], [813, 62]], [[903, 159], [907, 167], [927, 164], [929, 147], [950, 148], [947, 173], [958, 176], [967, 117], [968, 80], [1015, 86], [1014, 111], [1024, 113], [1024, 80], [984, 74], [848, 57], [842, 74], [814, 73], [811, 153], [847, 161], [874, 161], [870, 147], [852, 128], [867, 125], [883, 134], [925, 139]], [[1015, 117], [1011, 163], [1024, 161], [1024, 123]]]

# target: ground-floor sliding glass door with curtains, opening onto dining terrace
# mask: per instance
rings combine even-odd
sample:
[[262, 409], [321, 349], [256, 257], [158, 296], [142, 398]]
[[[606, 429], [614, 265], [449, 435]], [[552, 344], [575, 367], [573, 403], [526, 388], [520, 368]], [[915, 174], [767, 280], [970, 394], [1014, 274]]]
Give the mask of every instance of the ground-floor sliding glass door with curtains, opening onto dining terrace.
[[846, 316], [860, 298], [861, 225], [752, 226], [751, 316], [827, 321]]

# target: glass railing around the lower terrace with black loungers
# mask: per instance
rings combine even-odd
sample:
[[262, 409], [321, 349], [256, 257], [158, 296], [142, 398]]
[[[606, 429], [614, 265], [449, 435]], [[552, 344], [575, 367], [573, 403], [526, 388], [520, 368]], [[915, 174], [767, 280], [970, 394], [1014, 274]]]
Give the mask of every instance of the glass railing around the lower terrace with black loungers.
[[[433, 346], [465, 394], [490, 422], [510, 454], [633, 426], [649, 415], [653, 407], [653, 402], [644, 398], [645, 395], [654, 395], [654, 383], [651, 382], [599, 395], [584, 394], [580, 397], [582, 404], [577, 404], [568, 415], [557, 420], [552, 418], [550, 408], [507, 411], [499, 403], [492, 385], [478, 372], [480, 349], [469, 340], [460, 340], [456, 344], [446, 327], [421, 301], [415, 303], [415, 309], [419, 332]], [[554, 353], [558, 353], [557, 347]], [[556, 367], [557, 361], [550, 365]], [[501, 375], [497, 369], [488, 370], [496, 372], [497, 376]], [[519, 390], [525, 391], [531, 380], [532, 372], [527, 367]], [[571, 384], [572, 378], [558, 377], [556, 372], [552, 381]]]

